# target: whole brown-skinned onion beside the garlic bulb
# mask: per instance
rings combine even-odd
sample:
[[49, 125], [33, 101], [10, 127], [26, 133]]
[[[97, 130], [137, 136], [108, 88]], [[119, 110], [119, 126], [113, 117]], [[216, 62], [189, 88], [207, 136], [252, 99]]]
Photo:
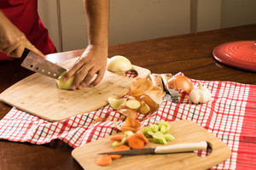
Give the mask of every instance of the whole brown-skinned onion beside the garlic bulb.
[[166, 88], [182, 89], [189, 94], [194, 87], [193, 83], [188, 77], [177, 75], [168, 80], [166, 83]]

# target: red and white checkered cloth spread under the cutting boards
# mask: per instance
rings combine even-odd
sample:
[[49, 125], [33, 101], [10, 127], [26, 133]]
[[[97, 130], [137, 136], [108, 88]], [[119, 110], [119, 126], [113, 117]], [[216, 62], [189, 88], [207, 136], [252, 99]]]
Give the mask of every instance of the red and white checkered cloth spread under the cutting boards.
[[[198, 80], [191, 79], [194, 85]], [[200, 81], [211, 90], [207, 104], [191, 105], [182, 93], [180, 103], [163, 100], [159, 111], [146, 117], [144, 125], [159, 121], [191, 120], [205, 127], [232, 150], [230, 159], [212, 169], [256, 169], [256, 86], [236, 82]], [[108, 117], [106, 122], [95, 122]], [[117, 133], [113, 121], [124, 124], [125, 116], [109, 105], [97, 111], [73, 116], [61, 122], [47, 122], [13, 108], [0, 121], [0, 139], [45, 144], [61, 139], [72, 147]]]

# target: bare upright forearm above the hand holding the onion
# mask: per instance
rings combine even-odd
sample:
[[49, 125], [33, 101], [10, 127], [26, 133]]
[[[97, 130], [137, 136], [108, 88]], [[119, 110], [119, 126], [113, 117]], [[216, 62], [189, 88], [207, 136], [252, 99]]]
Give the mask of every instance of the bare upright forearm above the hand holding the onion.
[[89, 44], [108, 46], [109, 0], [84, 0]]

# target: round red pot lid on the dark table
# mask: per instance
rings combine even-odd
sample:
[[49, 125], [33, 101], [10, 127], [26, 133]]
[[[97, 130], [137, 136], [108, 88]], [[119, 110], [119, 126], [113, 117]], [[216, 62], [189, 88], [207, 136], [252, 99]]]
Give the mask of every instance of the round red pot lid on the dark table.
[[224, 65], [256, 71], [256, 42], [227, 42], [213, 49], [213, 57]]

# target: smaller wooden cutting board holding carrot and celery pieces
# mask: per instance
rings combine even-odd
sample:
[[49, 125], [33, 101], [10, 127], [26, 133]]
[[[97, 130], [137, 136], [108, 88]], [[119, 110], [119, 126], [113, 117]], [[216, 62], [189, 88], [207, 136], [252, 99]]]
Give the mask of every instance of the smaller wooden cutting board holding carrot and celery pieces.
[[[231, 151], [221, 140], [216, 138], [212, 133], [197, 125], [195, 122], [182, 120], [170, 122], [170, 133], [175, 137], [175, 140], [169, 141], [167, 144], [178, 144], [186, 142], [207, 141], [212, 152], [209, 156], [197, 156], [194, 152], [172, 153], [163, 155], [141, 155], [141, 156], [122, 156], [119, 160], [114, 160], [108, 166], [96, 165], [96, 157], [98, 153], [113, 150], [110, 136], [104, 139], [98, 139], [89, 144], [84, 144], [72, 151], [72, 156], [86, 170], [103, 170], [103, 169], [207, 169], [214, 167], [218, 163], [228, 159]], [[116, 134], [115, 134], [116, 135]], [[161, 144], [149, 142], [146, 147], [156, 147]]]

